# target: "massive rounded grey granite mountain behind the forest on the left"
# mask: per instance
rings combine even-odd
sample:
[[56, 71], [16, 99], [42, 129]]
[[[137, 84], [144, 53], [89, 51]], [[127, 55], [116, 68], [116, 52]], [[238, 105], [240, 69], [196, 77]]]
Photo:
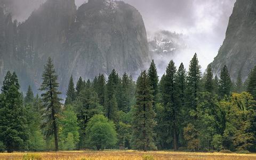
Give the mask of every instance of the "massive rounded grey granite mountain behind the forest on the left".
[[90, 0], [77, 10], [74, 0], [47, 0], [18, 25], [0, 13], [0, 26], [9, 36], [0, 44], [0, 81], [7, 70], [16, 71], [22, 90], [29, 84], [38, 89], [48, 57], [63, 93], [71, 75], [92, 79], [115, 68], [137, 76], [150, 62], [141, 14], [124, 2]]

